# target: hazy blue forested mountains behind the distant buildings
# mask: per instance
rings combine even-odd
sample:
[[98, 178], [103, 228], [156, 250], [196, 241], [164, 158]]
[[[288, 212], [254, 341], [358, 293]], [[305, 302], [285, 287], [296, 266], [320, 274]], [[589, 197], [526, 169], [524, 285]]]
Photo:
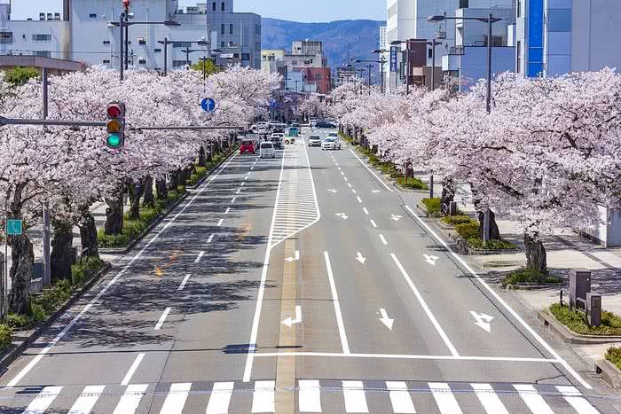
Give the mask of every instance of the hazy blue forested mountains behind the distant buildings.
[[[295, 40], [323, 42], [328, 66], [342, 66], [348, 59], [373, 59], [373, 49], [380, 47], [380, 27], [377, 20], [337, 20], [328, 23], [300, 23], [289, 20], [262, 19], [262, 48], [291, 51]], [[374, 68], [377, 71], [377, 66]]]

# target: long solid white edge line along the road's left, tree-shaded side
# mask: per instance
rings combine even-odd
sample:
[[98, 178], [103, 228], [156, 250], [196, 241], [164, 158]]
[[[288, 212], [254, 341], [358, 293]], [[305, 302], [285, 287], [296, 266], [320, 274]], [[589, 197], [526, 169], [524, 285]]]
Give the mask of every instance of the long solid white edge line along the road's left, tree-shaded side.
[[[119, 278], [122, 277], [122, 275], [125, 274], [125, 272], [130, 269], [130, 266], [132, 264], [134, 264], [134, 262], [136, 262], [138, 260], [138, 258], [145, 253], [145, 250], [151, 246], [153, 244], [153, 242], [155, 240], [157, 240], [161, 233], [163, 233], [165, 230], [167, 230], [170, 225], [172, 223], [174, 223], [177, 220], [177, 217], [179, 215], [182, 215], [185, 212], [185, 209], [187, 207], [190, 207], [194, 200], [197, 199], [200, 194], [202, 194], [203, 191], [205, 191], [205, 189], [208, 188], [208, 185], [211, 184], [218, 176], [220, 176], [220, 174], [222, 174], [222, 172], [224, 171], [225, 168], [227, 168], [229, 166], [229, 164], [231, 164], [232, 160], [234, 160], [236, 157], [238, 156], [238, 154], [236, 153], [235, 155], [233, 155], [231, 157], [230, 160], [226, 161], [226, 163], [220, 168], [220, 170], [217, 172], [217, 174], [215, 176], [212, 176], [211, 178], [209, 178], [208, 182], [206, 184], [203, 184], [202, 187], [200, 188], [199, 191], [196, 192], [196, 194], [194, 194], [194, 197], [188, 201], [184, 207], [182, 207], [178, 213], [176, 215], [174, 215], [169, 221], [168, 223], [166, 223], [161, 230], [159, 230], [157, 233], [155, 233], [155, 236], [153, 236], [153, 238], [150, 238], [149, 241], [146, 242], [145, 246], [143, 246], [140, 251], [131, 258], [130, 262], [128, 262], [124, 268], [121, 269], [121, 271], [119, 273], [116, 274], [115, 277], [112, 278], [112, 280], [110, 280], [100, 291], [99, 293], [97, 293], [97, 295], [95, 295], [95, 297], [93, 299], [90, 300], [90, 302], [84, 306], [84, 308], [80, 311], [80, 313], [78, 313], [76, 316], [74, 316], [73, 319], [71, 319], [71, 321], [63, 328], [62, 331], [60, 331], [53, 340], [51, 340], [50, 342], [48, 342], [48, 344], [45, 346], [45, 348], [43, 348], [41, 351], [39, 351], [39, 353], [35, 356], [35, 358], [33, 358], [28, 365], [26, 365], [21, 371], [20, 373], [18, 373], [11, 381], [9, 381], [9, 383], [6, 385], [6, 387], [8, 388], [12, 388], [15, 387], [21, 379], [23, 379], [26, 374], [28, 374], [28, 372], [30, 370], [32, 370], [35, 365], [37, 363], [39, 363], [39, 361], [41, 361], [41, 359], [43, 358], [43, 355], [47, 354], [48, 352], [50, 352], [51, 348], [54, 348], [54, 346], [59, 342], [59, 340], [62, 340], [63, 337], [67, 334], [67, 332], [69, 332], [69, 330], [75, 325], [75, 323], [77, 321], [79, 321], [80, 319], [83, 318], [84, 314], [86, 314], [86, 312], [89, 311], [90, 308], [92, 308], [98, 301], [99, 299], [101, 299], [101, 297], [104, 295], [104, 293], [106, 293], [108, 291], [108, 289], [110, 289], [110, 287], [112, 287], [118, 280]], [[166, 221], [166, 220], [165, 220]]]

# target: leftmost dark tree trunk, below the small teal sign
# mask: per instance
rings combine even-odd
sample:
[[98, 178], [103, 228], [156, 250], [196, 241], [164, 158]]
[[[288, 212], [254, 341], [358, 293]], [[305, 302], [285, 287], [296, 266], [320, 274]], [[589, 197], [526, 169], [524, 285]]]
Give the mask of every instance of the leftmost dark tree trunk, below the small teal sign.
[[9, 292], [9, 310], [17, 314], [28, 314], [30, 280], [35, 265], [35, 252], [26, 235], [11, 237], [12, 265], [9, 276], [12, 280]]

